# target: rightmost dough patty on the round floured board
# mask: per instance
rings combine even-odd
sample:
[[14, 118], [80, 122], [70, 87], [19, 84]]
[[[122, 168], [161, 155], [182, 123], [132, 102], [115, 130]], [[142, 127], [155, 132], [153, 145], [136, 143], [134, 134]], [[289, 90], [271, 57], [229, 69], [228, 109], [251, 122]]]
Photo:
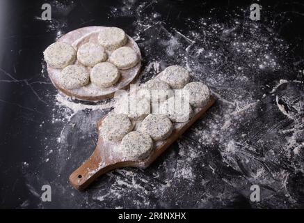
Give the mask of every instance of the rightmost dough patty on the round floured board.
[[118, 67], [118, 69], [126, 70], [136, 66], [139, 59], [134, 49], [120, 47], [111, 54], [109, 61]]

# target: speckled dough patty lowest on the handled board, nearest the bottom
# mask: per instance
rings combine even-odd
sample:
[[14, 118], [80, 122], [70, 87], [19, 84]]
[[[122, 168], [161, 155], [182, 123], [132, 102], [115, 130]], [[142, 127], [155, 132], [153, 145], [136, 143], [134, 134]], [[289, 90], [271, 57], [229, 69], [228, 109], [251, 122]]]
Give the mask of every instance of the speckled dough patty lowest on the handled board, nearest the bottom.
[[145, 132], [129, 132], [120, 143], [122, 156], [127, 160], [143, 160], [153, 148], [153, 141]]

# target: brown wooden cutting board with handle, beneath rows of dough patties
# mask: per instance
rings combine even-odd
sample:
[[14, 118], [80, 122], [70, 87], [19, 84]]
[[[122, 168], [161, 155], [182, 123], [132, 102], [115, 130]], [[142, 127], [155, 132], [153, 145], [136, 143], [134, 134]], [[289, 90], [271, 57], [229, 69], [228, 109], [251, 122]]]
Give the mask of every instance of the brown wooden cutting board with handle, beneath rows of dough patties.
[[[149, 165], [161, 155], [166, 149], [173, 144], [175, 140], [178, 139], [195, 121], [198, 120], [211, 105], [215, 102], [214, 97], [211, 97], [209, 102], [207, 103], [206, 107], [202, 108], [195, 108], [193, 109], [193, 116], [192, 118], [186, 123], [175, 123], [173, 133], [168, 137], [168, 139], [163, 141], [154, 142], [154, 150], [150, 155], [145, 158], [145, 160], [138, 160], [138, 161], [128, 161], [122, 160], [122, 156], [117, 154], [115, 151], [115, 146], [120, 145], [119, 142], [107, 142], [104, 141], [101, 137], [99, 132], [100, 126], [102, 125], [102, 121], [104, 118], [97, 122], [98, 128], [98, 141], [97, 146], [93, 154], [81, 164], [81, 167], [76, 169], [70, 175], [70, 183], [75, 187], [77, 190], [83, 190], [90, 183], [92, 183], [98, 176], [102, 174], [106, 174], [107, 172], [118, 169], [122, 167], [138, 167], [145, 169], [149, 167]], [[113, 111], [112, 111], [113, 112]]]

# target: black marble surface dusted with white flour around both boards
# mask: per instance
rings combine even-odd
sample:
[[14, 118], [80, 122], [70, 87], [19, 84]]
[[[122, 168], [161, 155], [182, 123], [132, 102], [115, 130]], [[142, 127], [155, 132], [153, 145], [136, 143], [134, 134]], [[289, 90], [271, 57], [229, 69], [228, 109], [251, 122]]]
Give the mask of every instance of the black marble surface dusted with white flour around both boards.
[[[42, 3], [0, 1], [1, 208], [304, 207], [303, 3], [262, 1], [259, 22], [250, 1], [49, 1], [51, 22], [40, 20]], [[218, 100], [151, 167], [78, 192], [68, 176], [92, 153], [112, 101], [58, 94], [42, 52], [93, 25], [136, 40], [141, 82], [179, 64]], [[51, 202], [40, 199], [45, 184]]]

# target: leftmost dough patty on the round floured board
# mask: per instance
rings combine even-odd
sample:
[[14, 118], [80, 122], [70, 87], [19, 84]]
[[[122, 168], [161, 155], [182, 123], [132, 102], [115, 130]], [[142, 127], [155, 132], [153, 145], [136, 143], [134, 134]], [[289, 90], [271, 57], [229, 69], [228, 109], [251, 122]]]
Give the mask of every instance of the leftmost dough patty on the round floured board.
[[56, 42], [43, 52], [45, 61], [51, 68], [63, 69], [74, 63], [76, 59], [76, 51], [72, 45], [63, 42]]

